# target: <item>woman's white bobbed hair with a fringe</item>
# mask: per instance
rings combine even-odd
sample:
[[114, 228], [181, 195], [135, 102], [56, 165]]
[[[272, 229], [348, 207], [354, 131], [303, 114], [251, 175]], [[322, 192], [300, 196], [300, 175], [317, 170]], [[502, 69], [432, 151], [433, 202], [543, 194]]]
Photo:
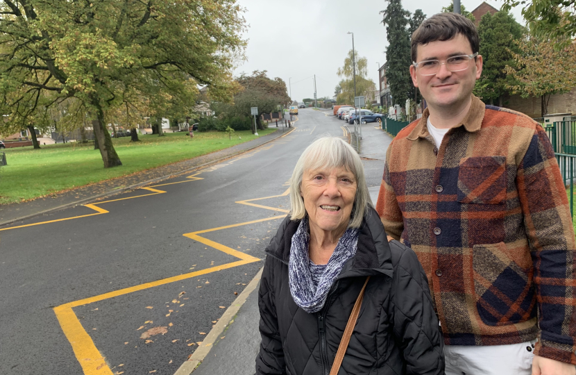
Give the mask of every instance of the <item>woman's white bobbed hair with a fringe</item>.
[[364, 178], [364, 165], [352, 146], [336, 137], [319, 138], [300, 155], [290, 179], [290, 218], [292, 220], [303, 219], [306, 216], [304, 199], [300, 190], [304, 172], [310, 169], [339, 167], [352, 172], [356, 180], [356, 196], [349, 226], [358, 228], [362, 224], [364, 211], [368, 206], [373, 206]]

